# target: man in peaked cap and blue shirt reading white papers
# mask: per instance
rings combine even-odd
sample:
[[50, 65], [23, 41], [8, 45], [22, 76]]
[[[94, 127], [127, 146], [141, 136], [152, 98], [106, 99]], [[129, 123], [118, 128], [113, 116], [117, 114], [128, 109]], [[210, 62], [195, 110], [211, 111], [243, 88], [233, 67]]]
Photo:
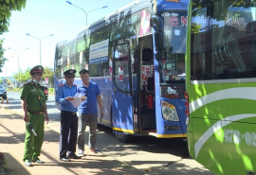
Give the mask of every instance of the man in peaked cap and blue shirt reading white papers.
[[61, 134], [60, 134], [60, 160], [69, 162], [70, 159], [81, 159], [75, 154], [78, 136], [77, 111], [70, 101], [74, 100], [77, 86], [73, 84], [76, 70], [69, 69], [64, 72], [65, 83], [59, 87], [56, 102], [61, 104]]

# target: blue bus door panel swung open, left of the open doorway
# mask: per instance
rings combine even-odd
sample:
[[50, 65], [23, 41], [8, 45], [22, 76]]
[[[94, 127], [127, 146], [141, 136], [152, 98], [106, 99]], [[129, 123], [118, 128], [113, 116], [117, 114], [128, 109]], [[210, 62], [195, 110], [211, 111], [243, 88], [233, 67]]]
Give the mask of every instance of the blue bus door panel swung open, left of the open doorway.
[[129, 41], [113, 44], [112, 126], [121, 141], [134, 134], [133, 93]]

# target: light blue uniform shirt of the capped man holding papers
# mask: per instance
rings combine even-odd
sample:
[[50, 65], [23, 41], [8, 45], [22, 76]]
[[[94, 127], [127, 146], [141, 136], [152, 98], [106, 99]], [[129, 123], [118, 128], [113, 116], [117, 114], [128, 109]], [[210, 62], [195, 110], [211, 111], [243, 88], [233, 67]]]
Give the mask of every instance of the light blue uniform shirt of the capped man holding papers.
[[72, 84], [71, 87], [68, 87], [68, 85], [65, 82], [63, 86], [60, 86], [58, 88], [55, 101], [61, 104], [61, 109], [63, 111], [77, 112], [78, 108], [75, 108], [70, 101], [65, 100], [65, 97], [75, 96], [76, 93], [77, 93], [77, 86]]

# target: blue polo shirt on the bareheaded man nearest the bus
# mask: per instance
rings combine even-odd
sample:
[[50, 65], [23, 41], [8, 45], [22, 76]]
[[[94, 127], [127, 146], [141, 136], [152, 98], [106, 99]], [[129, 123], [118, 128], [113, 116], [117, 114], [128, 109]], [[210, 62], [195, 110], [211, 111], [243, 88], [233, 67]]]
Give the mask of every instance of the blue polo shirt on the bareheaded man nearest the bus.
[[80, 114], [98, 114], [97, 110], [97, 96], [101, 95], [98, 84], [90, 81], [88, 87], [84, 85], [78, 87], [78, 93], [84, 93], [87, 98], [82, 101], [78, 111]]

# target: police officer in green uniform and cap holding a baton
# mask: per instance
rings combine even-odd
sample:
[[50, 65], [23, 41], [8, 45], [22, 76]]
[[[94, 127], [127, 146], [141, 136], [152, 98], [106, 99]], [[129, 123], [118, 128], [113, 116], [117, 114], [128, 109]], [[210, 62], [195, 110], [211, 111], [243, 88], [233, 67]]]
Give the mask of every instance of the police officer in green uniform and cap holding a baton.
[[[42, 90], [39, 82], [44, 73], [44, 67], [37, 65], [30, 70], [32, 81], [24, 85], [21, 93], [22, 109], [24, 111], [23, 119], [26, 122], [25, 151], [23, 161], [26, 166], [32, 166], [34, 163], [44, 163], [39, 159], [41, 148], [44, 141], [45, 120], [48, 123], [46, 111], [46, 94]], [[28, 127], [27, 123], [33, 127], [37, 133], [35, 136]]]

